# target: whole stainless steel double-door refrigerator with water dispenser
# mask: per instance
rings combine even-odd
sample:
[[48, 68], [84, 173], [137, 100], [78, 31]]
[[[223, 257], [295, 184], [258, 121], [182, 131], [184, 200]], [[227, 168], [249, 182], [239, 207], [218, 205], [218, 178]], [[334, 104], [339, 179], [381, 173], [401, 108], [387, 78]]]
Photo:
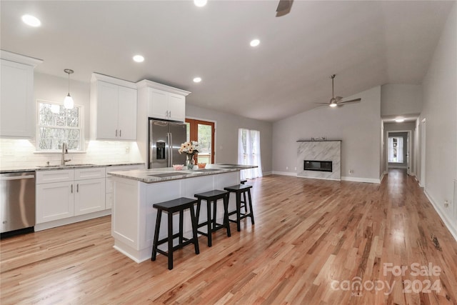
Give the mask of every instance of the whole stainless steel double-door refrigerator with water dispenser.
[[178, 149], [186, 141], [186, 124], [149, 118], [148, 169], [185, 164]]

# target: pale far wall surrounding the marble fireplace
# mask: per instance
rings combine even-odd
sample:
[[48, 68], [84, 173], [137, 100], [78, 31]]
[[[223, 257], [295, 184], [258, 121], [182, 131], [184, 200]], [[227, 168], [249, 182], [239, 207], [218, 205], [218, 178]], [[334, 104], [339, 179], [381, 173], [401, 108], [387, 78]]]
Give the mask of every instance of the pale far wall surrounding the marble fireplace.
[[[376, 182], [381, 164], [381, 86], [363, 91], [358, 104], [305, 111], [273, 124], [273, 172], [296, 173], [296, 141], [311, 136], [342, 140], [341, 178]], [[349, 175], [349, 169], [353, 174]]]

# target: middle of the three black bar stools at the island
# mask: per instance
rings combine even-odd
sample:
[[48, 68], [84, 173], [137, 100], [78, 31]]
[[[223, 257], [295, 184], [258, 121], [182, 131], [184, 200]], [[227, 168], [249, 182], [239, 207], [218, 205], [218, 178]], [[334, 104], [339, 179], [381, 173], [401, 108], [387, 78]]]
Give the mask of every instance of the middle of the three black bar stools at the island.
[[[196, 211], [196, 219], [197, 219], [197, 233], [207, 236], [208, 237], [208, 246], [213, 245], [213, 239], [211, 237], [211, 234], [214, 231], [217, 231], [222, 228], [226, 228], [227, 230], [227, 236], [231, 236], [230, 234], [230, 224], [229, 224], [229, 192], [228, 191], [219, 191], [219, 190], [214, 190], [214, 191], [206, 191], [204, 193], [200, 194], [195, 194], [196, 198], [198, 199], [197, 201], [197, 211]], [[218, 224], [216, 223], [216, 207], [217, 207], [217, 201], [219, 199], [224, 200], [224, 224]], [[206, 200], [206, 221], [202, 222], [201, 224], [199, 223], [199, 218], [200, 218], [200, 206], [201, 206], [201, 201]], [[213, 217], [211, 218], [211, 202], [213, 202]], [[206, 226], [207, 230], [206, 233], [202, 231], [198, 231], [201, 226]]]

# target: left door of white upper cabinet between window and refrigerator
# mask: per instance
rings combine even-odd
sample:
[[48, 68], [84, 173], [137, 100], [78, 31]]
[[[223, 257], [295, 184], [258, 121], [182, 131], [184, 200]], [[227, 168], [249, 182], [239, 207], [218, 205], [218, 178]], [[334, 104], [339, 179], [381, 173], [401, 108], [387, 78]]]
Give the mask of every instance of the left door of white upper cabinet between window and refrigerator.
[[117, 139], [119, 86], [97, 82], [97, 139]]

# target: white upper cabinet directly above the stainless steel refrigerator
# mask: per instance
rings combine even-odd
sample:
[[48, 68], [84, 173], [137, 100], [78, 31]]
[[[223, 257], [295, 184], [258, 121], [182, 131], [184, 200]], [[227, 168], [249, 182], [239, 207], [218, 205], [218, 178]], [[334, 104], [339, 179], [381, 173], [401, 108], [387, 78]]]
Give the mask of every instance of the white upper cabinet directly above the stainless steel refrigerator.
[[166, 119], [171, 121], [186, 120], [186, 96], [184, 91], [154, 81], [139, 81], [136, 83], [139, 90], [140, 107], [147, 114], [145, 118]]

